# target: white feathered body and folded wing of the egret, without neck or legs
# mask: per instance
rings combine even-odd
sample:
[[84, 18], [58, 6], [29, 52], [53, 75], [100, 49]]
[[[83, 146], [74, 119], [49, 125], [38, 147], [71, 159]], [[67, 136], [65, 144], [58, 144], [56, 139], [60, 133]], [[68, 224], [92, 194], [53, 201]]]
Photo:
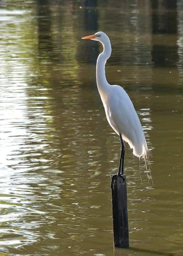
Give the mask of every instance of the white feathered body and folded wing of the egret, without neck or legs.
[[118, 135], [121, 133], [123, 140], [133, 148], [135, 156], [147, 156], [148, 148], [142, 125], [125, 90], [119, 85], [112, 85], [108, 99], [102, 101], [107, 120], [113, 130]]

